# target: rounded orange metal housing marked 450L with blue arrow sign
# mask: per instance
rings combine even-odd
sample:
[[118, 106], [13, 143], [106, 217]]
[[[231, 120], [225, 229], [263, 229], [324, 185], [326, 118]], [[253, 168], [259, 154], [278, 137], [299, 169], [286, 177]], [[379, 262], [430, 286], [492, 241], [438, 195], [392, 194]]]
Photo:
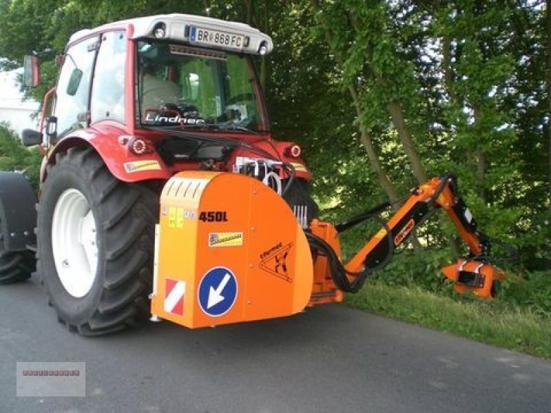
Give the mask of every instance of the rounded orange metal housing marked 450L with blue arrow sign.
[[300, 312], [309, 244], [288, 204], [236, 173], [180, 172], [160, 198], [152, 315], [189, 328]]

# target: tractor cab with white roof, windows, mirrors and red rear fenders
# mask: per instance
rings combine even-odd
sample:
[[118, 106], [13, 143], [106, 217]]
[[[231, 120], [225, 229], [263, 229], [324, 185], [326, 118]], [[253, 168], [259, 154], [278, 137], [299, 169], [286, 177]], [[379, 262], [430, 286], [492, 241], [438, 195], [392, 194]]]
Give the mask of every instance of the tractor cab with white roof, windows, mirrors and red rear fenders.
[[[91, 145], [125, 182], [205, 167], [252, 170], [259, 179], [271, 173], [278, 177], [273, 187], [282, 187], [291, 169], [310, 180], [300, 147], [269, 133], [252, 57], [272, 48], [270, 37], [249, 25], [189, 14], [81, 30], [59, 61], [40, 131], [26, 131], [23, 143], [40, 143], [49, 163], [57, 151]], [[34, 63], [25, 65], [29, 85], [37, 80]]]

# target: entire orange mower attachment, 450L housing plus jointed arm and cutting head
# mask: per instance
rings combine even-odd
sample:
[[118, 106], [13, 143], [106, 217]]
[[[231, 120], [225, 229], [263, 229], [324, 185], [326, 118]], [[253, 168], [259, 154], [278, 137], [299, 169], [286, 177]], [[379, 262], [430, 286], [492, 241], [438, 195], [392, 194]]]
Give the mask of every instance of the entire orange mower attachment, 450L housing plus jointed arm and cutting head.
[[481, 234], [457, 195], [454, 176], [433, 178], [406, 202], [360, 251], [343, 264], [339, 233], [380, 213], [385, 203], [333, 226], [304, 220], [278, 193], [249, 176], [185, 171], [160, 198], [156, 226], [154, 318], [189, 328], [284, 317], [306, 306], [342, 301], [388, 263], [395, 248], [439, 208], [469, 246], [469, 257], [443, 269], [458, 293], [495, 295], [505, 274], [489, 262]]

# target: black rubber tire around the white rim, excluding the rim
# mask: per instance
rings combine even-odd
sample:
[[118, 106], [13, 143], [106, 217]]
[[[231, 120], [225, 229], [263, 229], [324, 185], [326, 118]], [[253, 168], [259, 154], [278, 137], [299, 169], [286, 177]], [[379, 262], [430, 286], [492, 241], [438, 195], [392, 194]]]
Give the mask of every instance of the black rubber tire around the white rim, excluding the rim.
[[[85, 196], [96, 220], [98, 269], [92, 288], [76, 298], [61, 284], [52, 254], [52, 217], [66, 189]], [[149, 315], [158, 195], [145, 183], [116, 180], [92, 148], [74, 147], [48, 167], [38, 209], [37, 270], [59, 321], [81, 335], [105, 335]]]

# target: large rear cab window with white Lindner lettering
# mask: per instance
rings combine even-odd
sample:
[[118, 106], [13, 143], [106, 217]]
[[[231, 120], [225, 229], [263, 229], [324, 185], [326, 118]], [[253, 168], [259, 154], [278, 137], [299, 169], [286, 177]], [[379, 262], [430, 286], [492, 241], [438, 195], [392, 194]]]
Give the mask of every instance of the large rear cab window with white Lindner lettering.
[[170, 43], [137, 47], [142, 125], [263, 129], [245, 57]]

